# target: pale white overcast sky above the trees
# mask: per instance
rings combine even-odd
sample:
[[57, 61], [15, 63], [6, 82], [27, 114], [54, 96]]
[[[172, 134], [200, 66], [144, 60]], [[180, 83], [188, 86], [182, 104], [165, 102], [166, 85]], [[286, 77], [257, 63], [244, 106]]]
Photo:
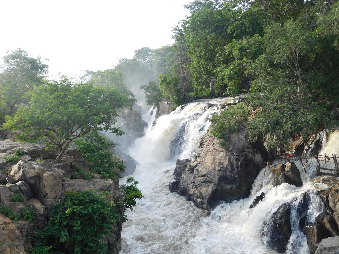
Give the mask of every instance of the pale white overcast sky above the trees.
[[20, 47], [48, 59], [52, 75], [111, 69], [139, 48], [172, 44], [193, 1], [0, 0], [0, 58]]

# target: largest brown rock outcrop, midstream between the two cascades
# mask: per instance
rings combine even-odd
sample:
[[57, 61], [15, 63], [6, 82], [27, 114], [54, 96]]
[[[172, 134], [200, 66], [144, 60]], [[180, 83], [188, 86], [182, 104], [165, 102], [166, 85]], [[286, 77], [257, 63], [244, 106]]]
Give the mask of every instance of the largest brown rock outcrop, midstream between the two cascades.
[[213, 137], [201, 138], [196, 149], [197, 158], [192, 162], [177, 162], [178, 194], [206, 210], [214, 208], [219, 201], [247, 197], [254, 179], [268, 160], [262, 144], [249, 144], [247, 140], [244, 126], [231, 135], [229, 149], [221, 147]]

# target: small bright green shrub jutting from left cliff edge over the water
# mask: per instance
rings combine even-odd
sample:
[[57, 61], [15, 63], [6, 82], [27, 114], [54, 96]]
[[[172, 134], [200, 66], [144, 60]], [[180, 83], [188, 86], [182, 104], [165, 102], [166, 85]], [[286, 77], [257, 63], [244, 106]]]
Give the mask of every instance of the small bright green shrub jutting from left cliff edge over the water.
[[140, 200], [144, 197], [137, 185], [138, 182], [133, 177], [128, 177], [126, 184], [120, 186], [125, 208], [133, 210], [133, 207], [137, 205], [137, 199]]

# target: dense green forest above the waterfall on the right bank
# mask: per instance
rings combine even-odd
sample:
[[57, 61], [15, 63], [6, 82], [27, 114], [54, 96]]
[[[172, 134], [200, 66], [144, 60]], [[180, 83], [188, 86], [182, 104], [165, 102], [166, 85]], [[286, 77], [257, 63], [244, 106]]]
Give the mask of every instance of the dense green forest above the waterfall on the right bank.
[[[271, 148], [339, 125], [337, 0], [197, 0], [186, 8], [161, 58], [159, 90], [142, 87], [148, 103], [159, 92], [174, 105], [245, 93], [248, 114], [238, 118], [249, 119], [251, 141]], [[159, 63], [155, 53], [152, 61]], [[215, 116], [213, 134], [227, 141], [234, 117]]]

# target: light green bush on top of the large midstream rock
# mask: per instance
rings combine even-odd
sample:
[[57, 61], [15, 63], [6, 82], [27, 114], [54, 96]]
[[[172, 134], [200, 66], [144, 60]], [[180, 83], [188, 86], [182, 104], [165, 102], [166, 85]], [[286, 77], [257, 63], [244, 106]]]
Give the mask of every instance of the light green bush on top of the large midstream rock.
[[248, 116], [249, 110], [244, 103], [230, 106], [219, 115], [212, 115], [210, 121], [213, 123], [213, 136], [220, 139], [220, 145], [227, 147], [229, 135], [239, 131], [239, 127], [247, 122]]

